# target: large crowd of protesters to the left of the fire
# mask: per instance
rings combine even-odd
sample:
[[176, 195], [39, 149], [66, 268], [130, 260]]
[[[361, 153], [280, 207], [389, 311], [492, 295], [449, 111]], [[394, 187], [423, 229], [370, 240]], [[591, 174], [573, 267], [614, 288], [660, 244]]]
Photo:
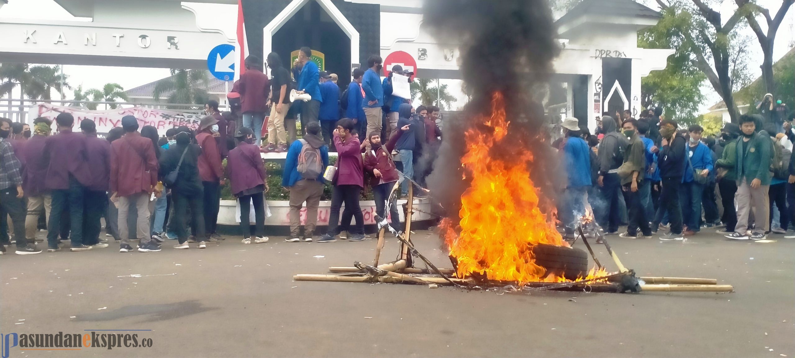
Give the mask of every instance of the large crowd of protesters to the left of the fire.
[[[0, 253], [14, 241], [18, 255], [41, 253], [40, 228], [46, 228], [49, 252], [60, 251], [67, 240], [70, 251], [108, 247], [108, 237], [120, 252], [161, 251], [166, 239], [176, 239], [175, 249], [188, 249], [189, 243], [206, 248], [224, 239], [217, 223], [227, 181], [240, 204], [242, 243], [266, 243], [264, 201], [270, 188], [262, 152], [286, 152], [281, 180], [289, 190], [286, 241], [308, 242], [315, 236], [329, 151], [337, 153], [335, 175], [329, 179], [330, 224], [316, 241], [334, 242], [341, 232], [350, 241], [366, 239], [359, 208], [366, 185], [374, 192], [378, 217], [388, 217], [389, 208], [392, 227], [401, 230], [397, 196], [390, 193], [401, 178], [422, 183], [429, 174], [429, 168], [417, 164], [438, 149], [439, 108], [414, 108], [394, 95], [392, 74], [412, 73], [395, 65], [381, 80], [382, 59], [375, 55], [366, 71], [353, 71], [354, 80], [340, 93], [337, 76], [320, 71], [309, 60], [311, 53], [301, 49], [292, 76], [276, 53], [267, 56], [270, 77], [256, 56], [248, 57], [246, 72], [230, 95], [238, 99], [231, 100], [232, 111], [222, 113], [219, 103], [209, 100], [196, 128], [171, 128], [160, 138], [155, 127], [139, 127], [142, 121], [132, 115], [105, 138], [91, 119], [76, 123], [68, 113], [58, 115], [55, 123], [34, 119], [33, 132], [27, 124], [0, 119]], [[292, 89], [311, 99], [291, 102]], [[264, 142], [263, 126], [268, 131]], [[404, 194], [408, 185], [409, 180], [402, 180]]]

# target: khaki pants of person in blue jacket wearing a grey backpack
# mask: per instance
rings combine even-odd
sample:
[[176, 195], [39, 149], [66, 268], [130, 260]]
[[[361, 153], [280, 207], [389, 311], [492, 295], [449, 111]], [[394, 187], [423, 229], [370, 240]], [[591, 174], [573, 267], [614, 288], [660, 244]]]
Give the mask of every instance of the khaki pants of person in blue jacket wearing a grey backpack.
[[320, 205], [320, 196], [323, 195], [323, 183], [301, 179], [290, 187], [290, 237], [297, 238], [301, 235], [301, 207], [306, 201], [306, 225], [304, 238], [311, 238], [317, 225], [317, 207]]

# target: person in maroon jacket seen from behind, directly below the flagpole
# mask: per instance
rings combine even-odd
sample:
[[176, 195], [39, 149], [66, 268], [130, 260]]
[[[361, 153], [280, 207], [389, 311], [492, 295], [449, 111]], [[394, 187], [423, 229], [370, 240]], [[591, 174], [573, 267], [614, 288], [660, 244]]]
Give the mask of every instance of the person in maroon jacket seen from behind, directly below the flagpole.
[[[240, 202], [240, 234], [242, 243], [267, 243], [265, 235], [265, 196], [268, 191], [265, 165], [259, 155], [259, 147], [254, 145], [254, 131], [240, 128], [235, 134], [235, 149], [229, 151], [227, 158], [227, 177], [232, 194]], [[250, 237], [250, 205], [254, 204], [256, 236]]]

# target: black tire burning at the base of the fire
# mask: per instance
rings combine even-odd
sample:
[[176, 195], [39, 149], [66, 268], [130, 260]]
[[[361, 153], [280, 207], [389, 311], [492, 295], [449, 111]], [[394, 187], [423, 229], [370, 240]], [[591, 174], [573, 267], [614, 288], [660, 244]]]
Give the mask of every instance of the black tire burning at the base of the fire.
[[540, 243], [533, 246], [536, 264], [544, 267], [547, 274], [563, 276], [570, 280], [588, 274], [588, 253], [574, 247]]

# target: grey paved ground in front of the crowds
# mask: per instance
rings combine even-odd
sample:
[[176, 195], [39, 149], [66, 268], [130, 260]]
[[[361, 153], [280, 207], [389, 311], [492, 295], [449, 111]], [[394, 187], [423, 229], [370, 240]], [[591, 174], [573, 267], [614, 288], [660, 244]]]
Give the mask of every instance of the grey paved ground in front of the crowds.
[[[370, 260], [374, 240], [243, 245], [230, 238], [206, 250], [121, 254], [112, 245], [3, 255], [0, 329], [151, 329], [138, 333], [153, 340], [152, 348], [111, 351], [11, 348], [12, 357], [795, 355], [795, 240], [701, 235], [611, 244], [638, 274], [718, 278], [735, 293], [528, 295], [291, 279]], [[418, 232], [415, 240], [449, 267], [435, 236]], [[396, 246], [389, 240], [382, 258], [393, 258]]]

